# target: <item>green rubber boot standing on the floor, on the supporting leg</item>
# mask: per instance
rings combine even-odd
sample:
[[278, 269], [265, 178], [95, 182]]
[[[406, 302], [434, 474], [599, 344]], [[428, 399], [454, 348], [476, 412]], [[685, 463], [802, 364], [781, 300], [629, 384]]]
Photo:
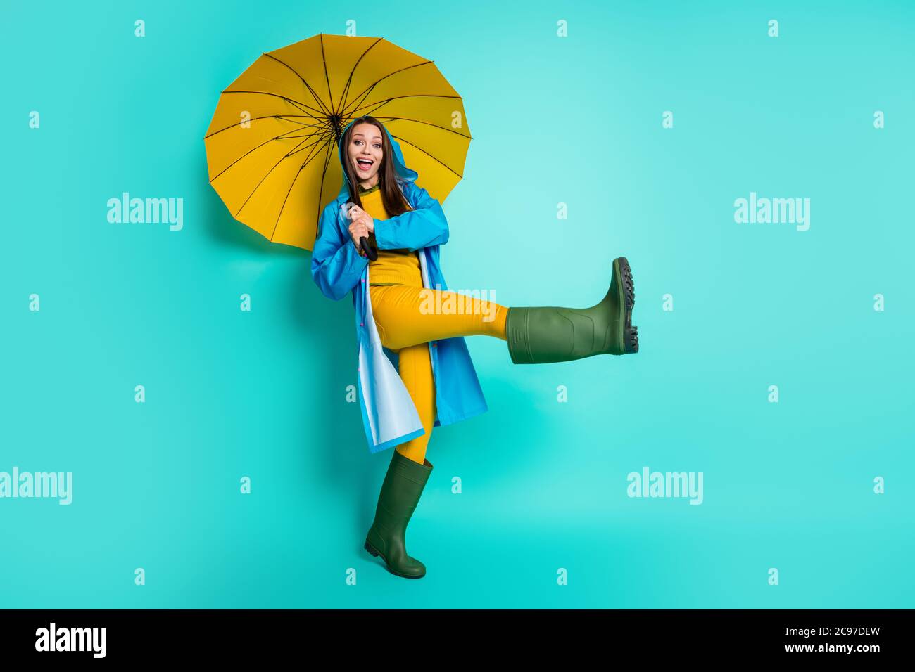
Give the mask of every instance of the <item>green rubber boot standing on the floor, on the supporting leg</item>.
[[404, 534], [431, 473], [428, 460], [419, 464], [394, 450], [378, 496], [375, 520], [365, 538], [365, 549], [373, 556], [382, 556], [387, 570], [405, 579], [425, 576], [425, 565], [406, 554]]

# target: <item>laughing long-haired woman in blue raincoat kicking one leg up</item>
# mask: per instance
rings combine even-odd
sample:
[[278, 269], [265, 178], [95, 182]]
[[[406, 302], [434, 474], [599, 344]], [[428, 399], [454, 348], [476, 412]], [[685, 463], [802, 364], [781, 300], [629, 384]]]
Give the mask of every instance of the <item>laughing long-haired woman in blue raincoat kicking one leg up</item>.
[[[419, 579], [425, 565], [407, 555], [404, 535], [432, 472], [432, 429], [487, 411], [464, 336], [505, 340], [515, 364], [638, 352], [632, 276], [624, 257], [614, 260], [608, 293], [590, 308], [506, 307], [448, 292], [438, 255], [448, 240], [445, 214], [415, 184], [383, 124], [371, 116], [350, 122], [339, 159], [343, 186], [321, 213], [311, 274], [330, 299], [352, 293], [369, 450], [395, 446], [364, 548], [393, 574]], [[462, 309], [437, 308], [456, 303]]]

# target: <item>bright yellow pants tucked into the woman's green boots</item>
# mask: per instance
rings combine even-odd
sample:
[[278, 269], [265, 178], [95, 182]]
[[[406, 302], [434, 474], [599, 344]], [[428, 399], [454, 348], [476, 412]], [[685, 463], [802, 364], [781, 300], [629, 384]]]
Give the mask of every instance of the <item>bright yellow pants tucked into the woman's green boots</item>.
[[425, 433], [394, 450], [419, 464], [436, 421], [436, 384], [429, 341], [454, 336], [496, 336], [506, 340], [508, 308], [456, 292], [405, 284], [369, 284], [371, 314], [382, 346], [399, 357], [400, 377]]

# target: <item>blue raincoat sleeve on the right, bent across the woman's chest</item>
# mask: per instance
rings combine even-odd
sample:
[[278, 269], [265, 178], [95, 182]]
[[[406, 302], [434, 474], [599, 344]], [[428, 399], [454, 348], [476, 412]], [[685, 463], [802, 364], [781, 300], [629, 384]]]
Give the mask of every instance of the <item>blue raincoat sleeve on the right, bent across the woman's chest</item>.
[[379, 250], [419, 250], [448, 241], [448, 222], [441, 204], [423, 187], [413, 182], [405, 195], [412, 195], [416, 205], [391, 219], [375, 220], [375, 242]]

